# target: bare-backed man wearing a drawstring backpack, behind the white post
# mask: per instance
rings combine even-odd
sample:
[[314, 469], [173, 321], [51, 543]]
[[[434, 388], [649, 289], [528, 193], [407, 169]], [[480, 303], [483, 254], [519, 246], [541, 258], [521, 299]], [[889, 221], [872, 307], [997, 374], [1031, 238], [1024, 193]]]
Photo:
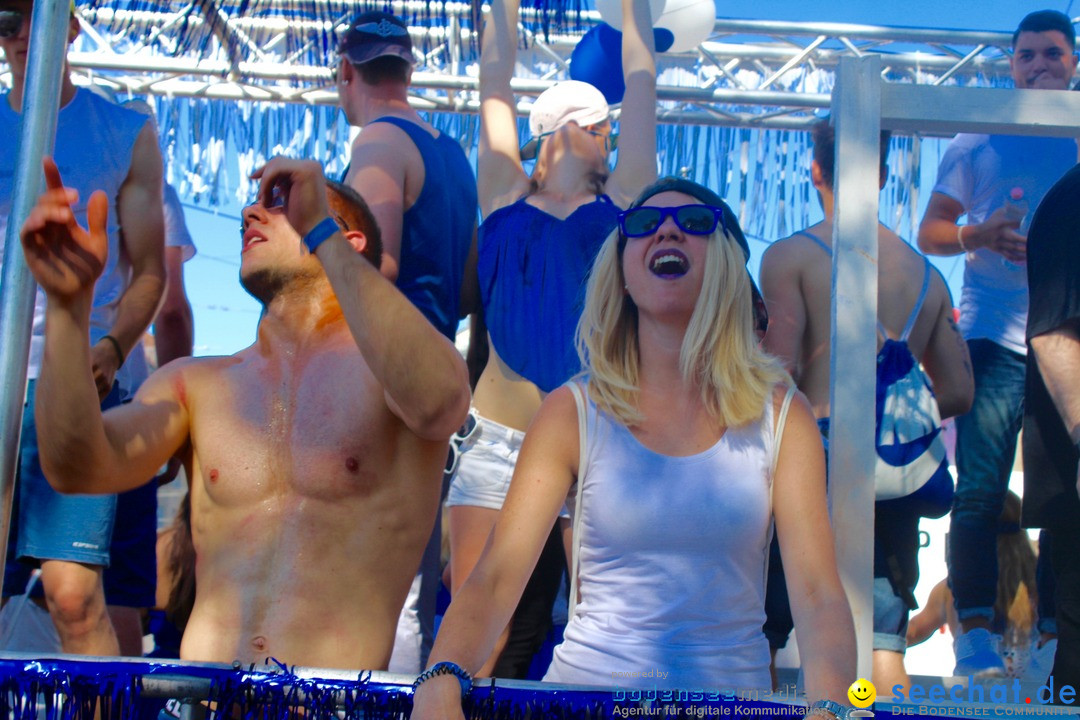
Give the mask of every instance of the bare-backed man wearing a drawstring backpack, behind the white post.
[[[828, 120], [815, 123], [812, 135], [810, 178], [825, 218], [769, 247], [761, 259], [761, 290], [770, 320], [765, 347], [784, 362], [810, 400], [827, 447], [835, 135]], [[881, 135], [880, 150], [879, 182], [885, 187], [888, 133]], [[907, 347], [933, 382], [942, 418], [963, 412], [974, 391], [968, 353], [953, 320], [945, 281], [923, 257], [880, 223], [878, 268], [881, 332], [889, 338], [903, 338], [905, 325], [914, 321], [906, 337]], [[926, 296], [919, 307], [923, 283]], [[913, 312], [915, 316], [910, 317]], [[914, 513], [893, 513], [880, 507], [876, 514], [873, 682], [879, 688], [909, 682], [904, 671], [908, 611], [905, 601], [914, 600], [912, 592], [918, 580], [918, 519]], [[792, 621], [783, 574], [779, 571], [779, 549], [773, 546], [772, 551], [765, 630], [775, 653], [786, 644]]]

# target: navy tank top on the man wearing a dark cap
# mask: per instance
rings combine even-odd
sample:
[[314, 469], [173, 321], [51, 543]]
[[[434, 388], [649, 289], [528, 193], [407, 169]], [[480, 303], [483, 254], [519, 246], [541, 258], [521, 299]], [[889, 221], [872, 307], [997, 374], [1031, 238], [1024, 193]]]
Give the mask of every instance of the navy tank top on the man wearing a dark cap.
[[465, 258], [476, 222], [476, 177], [456, 140], [408, 120], [379, 118], [404, 131], [423, 160], [423, 188], [402, 220], [397, 289], [451, 340]]

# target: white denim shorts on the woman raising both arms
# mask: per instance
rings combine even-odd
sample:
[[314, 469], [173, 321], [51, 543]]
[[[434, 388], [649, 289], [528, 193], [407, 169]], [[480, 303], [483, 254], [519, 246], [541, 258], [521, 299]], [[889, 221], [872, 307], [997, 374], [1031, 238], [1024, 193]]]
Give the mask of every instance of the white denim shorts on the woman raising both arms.
[[502, 510], [525, 433], [476, 416], [476, 430], [461, 448], [446, 506]]

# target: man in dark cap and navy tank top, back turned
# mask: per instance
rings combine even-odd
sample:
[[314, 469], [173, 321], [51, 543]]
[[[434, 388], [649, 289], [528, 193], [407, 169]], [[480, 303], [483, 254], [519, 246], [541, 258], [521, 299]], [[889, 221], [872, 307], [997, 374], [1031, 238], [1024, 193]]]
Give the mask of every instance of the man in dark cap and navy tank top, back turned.
[[[362, 128], [345, 182], [382, 230], [382, 274], [446, 337], [474, 300], [462, 296], [476, 232], [476, 178], [460, 144], [424, 122], [408, 103], [415, 57], [408, 27], [382, 12], [356, 15], [341, 37], [338, 101]], [[437, 478], [432, 478], [437, 483]], [[418, 673], [434, 639], [441, 583], [440, 520], [402, 615], [391, 670]]]

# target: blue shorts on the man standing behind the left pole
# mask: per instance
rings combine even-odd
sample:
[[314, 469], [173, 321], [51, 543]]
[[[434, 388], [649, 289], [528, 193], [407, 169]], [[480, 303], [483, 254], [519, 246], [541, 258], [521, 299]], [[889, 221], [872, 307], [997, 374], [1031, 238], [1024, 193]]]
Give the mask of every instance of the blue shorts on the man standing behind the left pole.
[[[4, 568], [3, 595], [19, 595], [26, 589], [30, 565], [12, 559], [67, 560], [107, 567], [109, 544], [116, 518], [116, 495], [65, 495], [53, 490], [41, 472], [38, 459], [38, 432], [33, 422], [36, 381], [27, 388], [23, 409], [23, 434], [12, 508], [8, 562]], [[113, 385], [102, 408], [120, 404], [121, 393]], [[13, 539], [15, 542], [12, 542]], [[14, 552], [12, 552], [14, 548]]]

